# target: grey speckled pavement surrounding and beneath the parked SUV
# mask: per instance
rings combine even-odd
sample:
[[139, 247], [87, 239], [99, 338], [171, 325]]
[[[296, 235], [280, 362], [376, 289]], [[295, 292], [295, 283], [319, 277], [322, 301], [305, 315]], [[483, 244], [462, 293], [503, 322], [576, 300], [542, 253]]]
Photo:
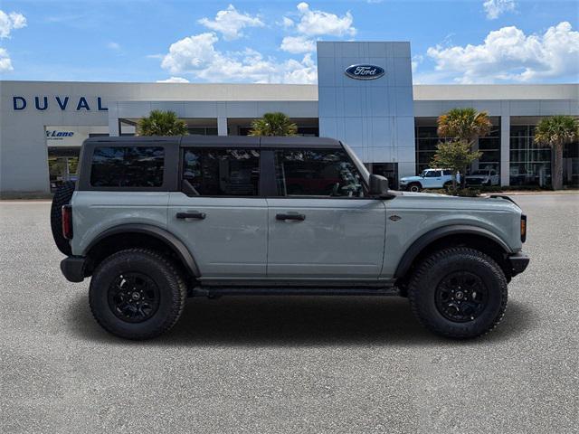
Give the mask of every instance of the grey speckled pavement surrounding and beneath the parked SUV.
[[579, 194], [516, 200], [532, 262], [469, 342], [392, 297], [195, 298], [123, 341], [62, 278], [49, 203], [0, 203], [0, 431], [577, 432]]

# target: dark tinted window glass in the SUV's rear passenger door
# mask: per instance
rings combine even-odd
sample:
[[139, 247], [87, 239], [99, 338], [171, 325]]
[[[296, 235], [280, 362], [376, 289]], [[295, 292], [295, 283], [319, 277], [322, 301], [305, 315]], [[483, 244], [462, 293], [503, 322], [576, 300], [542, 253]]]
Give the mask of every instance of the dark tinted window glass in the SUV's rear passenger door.
[[201, 196], [257, 196], [260, 151], [185, 149], [183, 179]]

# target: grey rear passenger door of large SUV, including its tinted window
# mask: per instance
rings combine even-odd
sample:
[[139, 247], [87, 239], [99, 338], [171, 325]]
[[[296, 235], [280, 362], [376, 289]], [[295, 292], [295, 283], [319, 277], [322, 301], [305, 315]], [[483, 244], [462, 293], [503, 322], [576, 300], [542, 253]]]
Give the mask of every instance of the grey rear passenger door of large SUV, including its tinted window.
[[167, 222], [204, 279], [266, 276], [268, 210], [254, 140], [181, 149], [182, 191], [170, 194]]

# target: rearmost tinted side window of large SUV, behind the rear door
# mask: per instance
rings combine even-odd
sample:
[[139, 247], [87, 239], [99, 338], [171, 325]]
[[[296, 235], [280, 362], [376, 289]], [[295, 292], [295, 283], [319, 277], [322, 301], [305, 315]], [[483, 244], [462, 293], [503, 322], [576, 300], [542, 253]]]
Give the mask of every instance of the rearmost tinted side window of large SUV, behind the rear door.
[[99, 146], [92, 155], [93, 187], [160, 187], [165, 150], [162, 146]]

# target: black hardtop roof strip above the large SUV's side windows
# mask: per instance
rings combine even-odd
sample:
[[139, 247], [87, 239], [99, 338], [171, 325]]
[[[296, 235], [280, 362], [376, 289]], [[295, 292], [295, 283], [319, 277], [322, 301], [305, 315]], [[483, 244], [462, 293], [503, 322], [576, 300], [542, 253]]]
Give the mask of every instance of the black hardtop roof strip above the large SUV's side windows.
[[341, 148], [341, 143], [334, 138], [327, 137], [252, 137], [252, 136], [121, 136], [121, 137], [90, 137], [85, 143], [97, 143], [109, 146], [128, 146], [129, 144], [175, 143], [182, 147], [325, 147]]

